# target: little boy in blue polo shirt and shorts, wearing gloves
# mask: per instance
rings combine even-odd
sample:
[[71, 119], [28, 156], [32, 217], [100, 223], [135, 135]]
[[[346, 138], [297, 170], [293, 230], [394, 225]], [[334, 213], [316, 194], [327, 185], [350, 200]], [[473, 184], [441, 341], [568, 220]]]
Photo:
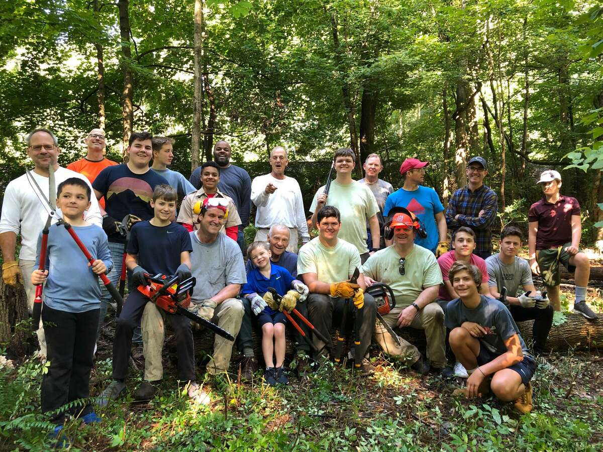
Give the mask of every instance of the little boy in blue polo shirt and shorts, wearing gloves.
[[[301, 281], [294, 280], [284, 268], [270, 263], [270, 247], [268, 242], [253, 242], [247, 249], [247, 256], [254, 268], [247, 274], [247, 283], [241, 289], [241, 295], [251, 303], [251, 309], [257, 316], [257, 321], [262, 327], [262, 353], [266, 363], [264, 378], [268, 385], [289, 383], [283, 371], [285, 362], [285, 324], [286, 317], [282, 309], [292, 310], [296, 301], [304, 301], [301, 293], [308, 293], [308, 287]], [[280, 311], [272, 309], [258, 294], [264, 295], [268, 287], [272, 287], [283, 297]], [[289, 290], [289, 288], [293, 290]], [[274, 344], [273, 344], [274, 338]], [[276, 366], [273, 362], [276, 354]]]

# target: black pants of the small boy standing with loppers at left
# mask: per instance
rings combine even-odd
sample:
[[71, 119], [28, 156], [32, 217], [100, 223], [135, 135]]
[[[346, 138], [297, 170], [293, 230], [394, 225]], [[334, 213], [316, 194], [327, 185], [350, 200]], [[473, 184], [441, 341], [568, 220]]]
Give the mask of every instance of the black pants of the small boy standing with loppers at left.
[[[44, 306], [42, 321], [46, 335], [48, 373], [42, 378], [42, 412], [52, 412], [66, 403], [90, 397], [90, 369], [94, 358], [99, 309], [66, 312]], [[63, 424], [65, 415], [87, 415], [89, 404], [75, 406], [52, 416]]]

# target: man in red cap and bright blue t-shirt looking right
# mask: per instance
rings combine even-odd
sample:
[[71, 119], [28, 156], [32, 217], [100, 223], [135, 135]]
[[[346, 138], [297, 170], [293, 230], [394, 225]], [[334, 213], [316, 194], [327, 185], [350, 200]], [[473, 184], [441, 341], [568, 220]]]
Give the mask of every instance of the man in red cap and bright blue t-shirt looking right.
[[404, 185], [388, 196], [384, 215], [389, 215], [393, 207], [405, 207], [410, 210], [423, 222], [427, 233], [425, 238], [415, 237], [415, 243], [431, 250], [435, 257], [440, 257], [448, 251], [446, 218], [438, 193], [431, 187], [422, 185], [428, 165], [429, 162], [421, 162], [418, 159], [406, 159], [402, 162], [400, 174], [404, 178]]

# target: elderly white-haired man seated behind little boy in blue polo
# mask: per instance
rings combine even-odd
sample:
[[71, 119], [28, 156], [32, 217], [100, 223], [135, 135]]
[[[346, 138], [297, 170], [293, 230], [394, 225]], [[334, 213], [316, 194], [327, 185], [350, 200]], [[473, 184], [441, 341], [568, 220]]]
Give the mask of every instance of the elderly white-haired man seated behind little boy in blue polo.
[[[297, 254], [289, 253], [289, 228], [283, 224], [273, 224], [268, 230], [268, 246], [270, 246], [270, 262], [282, 268], [285, 268], [293, 278], [297, 278]], [[253, 269], [251, 259], [247, 260], [245, 271], [247, 274]], [[251, 339], [252, 325], [255, 325], [255, 316], [251, 312], [251, 303], [247, 298], [242, 298], [245, 315], [241, 323], [241, 331], [236, 337], [236, 347], [244, 356], [242, 363], [242, 378], [251, 380], [253, 374], [257, 372], [257, 358], [253, 350], [253, 340]], [[301, 315], [308, 318], [308, 304], [300, 303], [297, 309]], [[310, 330], [303, 322], [298, 322], [306, 336], [310, 337]], [[297, 375], [305, 376], [309, 371], [308, 357], [310, 356], [310, 346], [304, 341], [301, 334], [293, 328], [293, 338], [295, 341], [295, 351], [297, 353]]]

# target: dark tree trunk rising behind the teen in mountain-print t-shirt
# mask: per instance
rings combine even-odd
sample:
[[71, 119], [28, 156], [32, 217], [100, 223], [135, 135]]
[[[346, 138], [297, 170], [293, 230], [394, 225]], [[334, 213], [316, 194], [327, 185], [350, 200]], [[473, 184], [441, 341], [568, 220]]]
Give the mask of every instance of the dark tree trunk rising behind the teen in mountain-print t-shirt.
[[132, 49], [130, 46], [130, 14], [128, 13], [128, 0], [119, 0], [119, 34], [121, 36], [121, 51], [123, 54], [121, 67], [124, 73], [124, 89], [122, 90], [122, 124], [124, 128], [122, 148], [125, 154], [125, 149], [128, 147], [128, 140], [132, 133], [134, 124], [134, 80], [130, 60], [132, 57]]

